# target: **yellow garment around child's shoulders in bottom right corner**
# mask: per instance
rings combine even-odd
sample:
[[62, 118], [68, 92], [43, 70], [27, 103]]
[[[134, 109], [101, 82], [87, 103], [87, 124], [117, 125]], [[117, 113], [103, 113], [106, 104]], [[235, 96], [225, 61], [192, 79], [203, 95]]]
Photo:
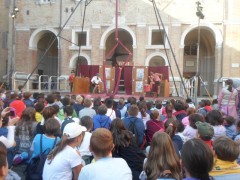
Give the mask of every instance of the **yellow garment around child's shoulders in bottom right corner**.
[[210, 176], [218, 176], [224, 174], [237, 174], [240, 173], [240, 166], [236, 161], [223, 161], [221, 159], [215, 159]]

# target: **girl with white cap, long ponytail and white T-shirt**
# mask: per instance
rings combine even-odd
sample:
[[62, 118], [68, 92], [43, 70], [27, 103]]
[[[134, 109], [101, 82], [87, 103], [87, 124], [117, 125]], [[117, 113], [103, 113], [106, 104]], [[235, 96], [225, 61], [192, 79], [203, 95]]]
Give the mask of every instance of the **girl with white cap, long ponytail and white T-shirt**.
[[77, 123], [65, 126], [61, 140], [47, 157], [43, 179], [78, 179], [83, 165], [80, 152], [75, 148], [82, 143], [86, 130]]

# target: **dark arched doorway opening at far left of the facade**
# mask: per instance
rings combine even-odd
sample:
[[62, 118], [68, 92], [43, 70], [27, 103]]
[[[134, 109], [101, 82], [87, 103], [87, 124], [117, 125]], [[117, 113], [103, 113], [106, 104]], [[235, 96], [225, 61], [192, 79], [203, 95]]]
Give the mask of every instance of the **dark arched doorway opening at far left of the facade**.
[[[51, 31], [41, 32], [37, 42], [37, 62], [42, 59], [43, 54], [49, 48], [56, 35]], [[58, 75], [58, 41], [56, 40], [49, 49], [43, 60], [38, 66], [39, 75], [57, 76]]]

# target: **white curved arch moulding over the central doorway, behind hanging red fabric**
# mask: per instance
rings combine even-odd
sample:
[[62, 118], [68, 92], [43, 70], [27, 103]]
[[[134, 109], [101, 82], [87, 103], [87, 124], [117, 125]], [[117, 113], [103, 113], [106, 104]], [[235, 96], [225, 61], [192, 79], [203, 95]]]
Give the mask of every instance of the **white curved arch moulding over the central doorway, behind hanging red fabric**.
[[[110, 26], [102, 35], [101, 37], [101, 41], [100, 41], [100, 49], [104, 49], [105, 47], [105, 43], [106, 43], [106, 40], [108, 38], [108, 36], [114, 32], [116, 29], [116, 27], [113, 25], [113, 26]], [[137, 48], [137, 39], [136, 39], [136, 36], [133, 32], [133, 30], [131, 28], [129, 28], [128, 26], [120, 26], [119, 29], [123, 29], [125, 31], [127, 31], [131, 36], [132, 36], [132, 40], [133, 40], [133, 49]]]

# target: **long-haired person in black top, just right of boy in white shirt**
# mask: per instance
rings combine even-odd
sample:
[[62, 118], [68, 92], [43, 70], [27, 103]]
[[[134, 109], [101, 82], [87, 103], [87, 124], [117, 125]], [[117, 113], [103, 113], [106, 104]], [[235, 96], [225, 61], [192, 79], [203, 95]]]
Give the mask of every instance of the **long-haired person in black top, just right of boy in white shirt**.
[[133, 180], [138, 180], [143, 169], [144, 153], [133, 141], [133, 135], [128, 131], [120, 118], [112, 121], [110, 130], [113, 135], [113, 157], [123, 158], [132, 170]]

